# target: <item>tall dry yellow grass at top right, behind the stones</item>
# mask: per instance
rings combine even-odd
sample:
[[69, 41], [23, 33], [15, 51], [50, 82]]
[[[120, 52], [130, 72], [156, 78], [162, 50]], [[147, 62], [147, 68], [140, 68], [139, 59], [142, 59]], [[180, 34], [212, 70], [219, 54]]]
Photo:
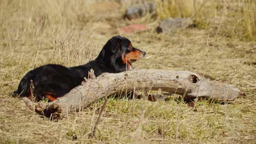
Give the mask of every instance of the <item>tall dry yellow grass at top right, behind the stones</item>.
[[[254, 1], [155, 1], [159, 5], [158, 15], [160, 19], [164, 17], [191, 17], [196, 22], [197, 27], [206, 27], [217, 22], [222, 25], [220, 29], [222, 34], [228, 34], [229, 37], [245, 37], [255, 40], [256, 3]], [[230, 29], [234, 31], [230, 33]]]

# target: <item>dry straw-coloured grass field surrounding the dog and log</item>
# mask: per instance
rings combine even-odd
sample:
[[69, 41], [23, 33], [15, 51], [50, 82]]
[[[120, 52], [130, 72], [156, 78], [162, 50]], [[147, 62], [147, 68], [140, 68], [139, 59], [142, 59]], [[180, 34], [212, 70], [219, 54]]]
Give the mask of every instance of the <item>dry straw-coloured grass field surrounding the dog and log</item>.
[[[0, 143], [256, 143], [255, 1], [156, 1], [158, 17], [124, 20], [136, 1], [0, 1]], [[168, 16], [195, 27], [157, 34]], [[103, 100], [51, 122], [11, 97], [21, 78], [48, 63], [67, 67], [96, 58], [117, 29], [150, 58], [135, 69], [189, 70], [228, 83], [243, 95], [230, 104], [205, 100], [189, 107], [171, 95], [150, 102], [108, 98], [96, 137], [89, 137]]]

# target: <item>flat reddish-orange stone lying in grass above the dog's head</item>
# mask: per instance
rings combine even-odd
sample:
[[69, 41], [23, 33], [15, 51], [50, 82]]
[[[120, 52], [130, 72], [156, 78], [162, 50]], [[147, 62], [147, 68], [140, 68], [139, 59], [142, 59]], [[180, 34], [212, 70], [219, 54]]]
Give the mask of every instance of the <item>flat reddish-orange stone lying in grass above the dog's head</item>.
[[147, 26], [146, 25], [139, 25], [139, 24], [134, 24], [134, 25], [129, 25], [126, 27], [121, 27], [118, 29], [118, 33], [134, 33], [134, 32], [138, 32], [138, 31], [145, 31], [147, 30]]

